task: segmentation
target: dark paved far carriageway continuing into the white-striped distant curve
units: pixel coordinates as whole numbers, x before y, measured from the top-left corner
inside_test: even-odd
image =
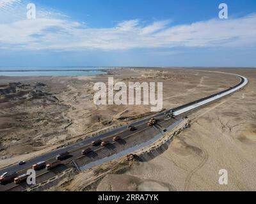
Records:
[[[248,79],[239,75],[235,75],[236,77],[241,78],[241,82],[239,82],[239,84],[237,84],[234,87],[230,87],[229,89],[222,91],[222,92],[218,92],[217,94],[213,94],[212,96],[208,96],[206,98],[203,99],[199,99],[197,101],[193,101],[191,103],[188,103],[186,105],[182,105],[179,106],[177,108],[173,108],[172,110],[168,110],[167,112],[161,112],[161,113],[157,113],[156,115],[154,115],[154,117],[156,117],[158,120],[164,120],[166,119],[166,115],[164,115],[164,113],[169,113],[169,112],[173,112],[173,114],[175,115],[175,117],[179,117],[181,115],[184,115],[188,112],[191,112],[197,108],[200,108],[204,105],[207,105],[209,103],[212,103],[218,99],[221,99],[225,96],[228,96],[229,94],[232,94],[233,92],[238,91],[239,89],[242,89],[245,85],[248,84]],[[144,131],[145,129],[148,129],[147,127],[147,122],[151,117],[147,117],[145,119],[139,120],[137,122],[132,123],[132,126],[136,127],[136,131],[128,131],[127,130],[127,126],[122,126],[120,128],[115,128],[111,131],[108,131],[106,133],[102,133],[98,136],[95,136],[93,138],[88,138],[86,140],[74,143],[72,145],[69,145],[67,147],[63,147],[61,149],[57,149],[54,150],[52,152],[49,152],[47,154],[44,154],[42,156],[38,156],[35,157],[29,161],[26,162],[26,164],[22,165],[22,166],[18,166],[18,165],[13,165],[13,166],[9,166],[7,168],[4,168],[2,170],[0,170],[0,175],[2,175],[4,172],[13,172],[16,171],[20,174],[26,172],[26,170],[28,170],[29,168],[31,168],[31,166],[35,163],[38,163],[40,161],[53,161],[55,159],[55,157],[62,153],[62,152],[71,152],[72,156],[70,159],[67,159],[67,161],[65,162],[70,162],[72,161],[72,159],[81,156],[81,150],[82,149],[86,149],[88,147],[91,147],[93,151],[97,151],[99,149],[99,147],[92,147],[91,143],[93,142],[93,140],[109,140],[111,141],[113,136],[120,136],[121,138],[126,138],[129,135],[134,135],[136,133],[140,133],[141,131]],[[172,121],[173,122],[173,121]],[[42,170],[40,173],[45,173],[45,170]],[[13,186],[13,184],[12,184]],[[3,189],[1,189],[0,186],[0,191],[2,191]]]

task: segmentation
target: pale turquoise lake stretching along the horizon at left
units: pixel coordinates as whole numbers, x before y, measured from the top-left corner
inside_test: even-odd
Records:
[[[0,68],[5,77],[74,77],[104,75],[107,68]],[[108,68],[109,69],[109,68]]]

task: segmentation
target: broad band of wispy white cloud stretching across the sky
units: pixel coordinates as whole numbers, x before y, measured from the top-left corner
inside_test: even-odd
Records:
[[[15,1],[18,0],[0,0],[0,5],[10,6]],[[175,26],[169,20],[145,25],[135,19],[120,22],[114,27],[92,29],[58,11],[36,9],[35,20],[15,18],[12,22],[0,22],[2,49],[122,50],[158,47],[247,47],[256,44],[255,14]]]

